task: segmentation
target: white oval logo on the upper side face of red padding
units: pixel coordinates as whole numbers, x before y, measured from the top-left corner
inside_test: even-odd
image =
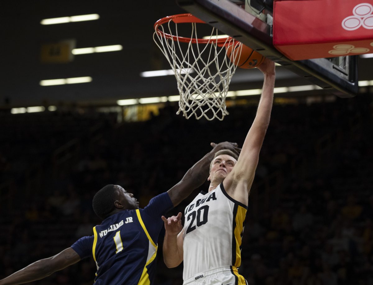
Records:
[[[348,16],[342,21],[342,27],[347,31],[354,31],[361,26],[373,29],[373,6],[369,3],[361,3],[352,10],[353,16]]]

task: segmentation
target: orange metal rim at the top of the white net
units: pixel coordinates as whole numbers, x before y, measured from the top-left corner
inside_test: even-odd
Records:
[[[175,35],[166,34],[165,32],[161,31],[159,29],[160,26],[163,24],[167,24],[168,22],[173,21],[176,24],[179,23],[201,23],[206,24],[206,22],[202,21],[201,19],[198,19],[197,17],[193,16],[192,14],[178,14],[173,16],[167,16],[162,19],[159,19],[154,24],[154,30],[158,35],[160,35],[163,38],[172,39],[173,41],[179,41],[182,43],[193,43],[193,44],[212,44],[216,43],[217,45],[221,46],[224,45],[229,37],[226,38],[219,38],[216,40],[212,39],[203,39],[203,38],[186,38],[186,37],[180,37]]]

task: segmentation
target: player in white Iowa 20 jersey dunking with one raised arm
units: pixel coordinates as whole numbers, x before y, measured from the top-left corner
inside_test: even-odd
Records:
[[[248,196],[259,152],[269,125],[275,85],[275,63],[258,66],[264,84],[258,110],[238,159],[228,150],[215,154],[210,166],[208,193],[201,192],[181,213],[162,217],[166,234],[163,257],[167,267],[184,260],[184,285],[244,285],[238,274]]]

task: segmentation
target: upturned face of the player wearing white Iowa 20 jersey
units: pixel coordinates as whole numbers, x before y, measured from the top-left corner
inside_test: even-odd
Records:
[[[232,171],[233,166],[235,166],[236,163],[237,160],[232,156],[229,156],[228,154],[220,154],[215,157],[211,166],[210,176],[207,180],[214,184],[221,183]]]

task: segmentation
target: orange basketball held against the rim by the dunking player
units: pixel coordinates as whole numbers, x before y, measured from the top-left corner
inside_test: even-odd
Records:
[[[241,49],[241,56],[238,54]],[[232,53],[233,49],[233,53]],[[252,48],[245,46],[242,43],[230,45],[226,47],[227,56],[231,62],[239,68],[249,69],[259,66],[265,59],[260,53],[256,52]],[[234,60],[234,61],[233,61]]]

